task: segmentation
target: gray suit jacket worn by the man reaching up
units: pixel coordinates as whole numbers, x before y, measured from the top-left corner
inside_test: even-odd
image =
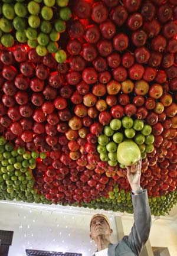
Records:
[[[151,214],[147,190],[132,195],[134,224],[129,236],[123,236],[117,244],[109,244],[108,256],[138,256],[149,237]]]

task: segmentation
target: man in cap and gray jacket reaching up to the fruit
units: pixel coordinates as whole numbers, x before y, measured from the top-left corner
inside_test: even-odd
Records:
[[[90,238],[97,245],[94,256],[138,256],[149,237],[151,215],[147,190],[140,187],[142,161],[132,167],[126,167],[127,179],[132,188],[134,224],[129,236],[124,236],[117,244],[111,244],[109,219],[103,214],[96,214],[90,221]]]

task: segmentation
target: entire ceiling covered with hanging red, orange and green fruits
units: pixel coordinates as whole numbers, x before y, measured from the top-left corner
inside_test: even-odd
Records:
[[[1,1],[1,200],[132,213],[127,142],[152,214],[171,210],[176,20],[176,0]]]

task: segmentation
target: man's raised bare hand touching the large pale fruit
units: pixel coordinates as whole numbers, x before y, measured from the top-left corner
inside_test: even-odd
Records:
[[[133,191],[137,191],[140,188],[140,177],[142,170],[142,159],[140,159],[133,166],[126,166],[127,169],[127,179],[129,180],[130,187]]]

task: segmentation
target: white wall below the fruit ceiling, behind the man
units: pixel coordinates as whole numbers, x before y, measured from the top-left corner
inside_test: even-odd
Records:
[[[12,202],[13,203],[13,202]],[[91,215],[98,210],[43,206],[36,204],[12,205],[0,202],[0,229],[14,231],[9,256],[25,255],[25,249],[47,251],[80,252],[90,256],[96,245],[89,237]],[[114,215],[108,212],[113,228],[112,242],[117,242]],[[128,235],[133,216],[122,215],[124,234]],[[150,231],[152,247],[168,247],[171,256],[177,252],[177,223],[173,220],[157,219]]]

